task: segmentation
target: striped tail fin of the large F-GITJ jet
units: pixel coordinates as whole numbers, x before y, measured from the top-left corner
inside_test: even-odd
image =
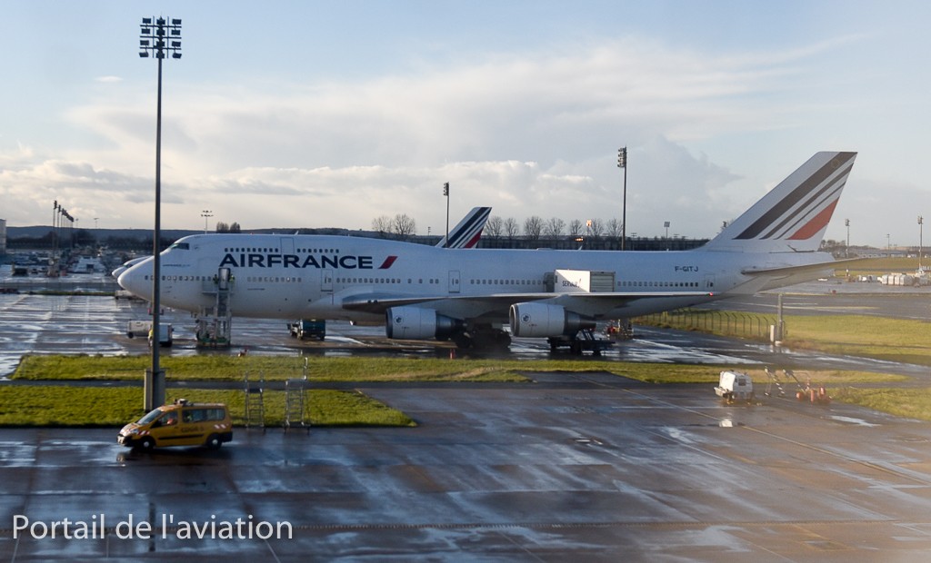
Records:
[[[816,251],[856,157],[857,153],[816,153],[703,249]]]

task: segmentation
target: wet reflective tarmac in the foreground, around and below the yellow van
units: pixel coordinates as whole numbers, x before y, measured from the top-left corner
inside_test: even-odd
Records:
[[[418,427],[237,430],[219,451],[133,453],[115,429],[2,430],[0,556],[850,563],[931,553],[927,423],[778,398],[727,405],[709,387],[600,373],[530,375],[362,386]],[[42,537],[36,523],[63,518],[72,530],[102,518],[105,537]],[[252,539],[223,536],[237,519],[256,523]],[[139,537],[141,523],[152,529]],[[290,537],[257,539],[284,524]]]

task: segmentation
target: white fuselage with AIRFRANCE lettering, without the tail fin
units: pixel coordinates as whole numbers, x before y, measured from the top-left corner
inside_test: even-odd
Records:
[[[830,257],[827,257],[830,260]],[[624,252],[435,248],[383,239],[324,235],[192,235],[161,255],[161,302],[191,312],[216,299],[221,268],[231,275],[233,315],[380,321],[384,313],[344,307],[358,296],[415,300],[454,318],[506,320],[502,302],[533,294],[593,318],[649,314],[752,293],[812,275],[744,275],[826,261],[820,253],[708,251]],[[151,299],[151,259],[119,278],[124,288]],[[556,270],[614,274],[614,293],[651,299],[591,300],[577,288],[547,287]],[[540,295],[540,294],[547,295]],[[655,296],[661,293],[664,295]],[[681,296],[670,295],[681,293]],[[481,298],[487,297],[483,302]],[[610,303],[610,304],[609,304]]]

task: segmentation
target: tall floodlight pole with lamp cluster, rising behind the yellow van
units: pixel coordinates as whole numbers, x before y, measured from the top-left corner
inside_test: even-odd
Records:
[[[155,229],[152,233],[152,370],[145,378],[145,409],[151,410],[165,403],[165,371],[158,364],[158,347],[161,344],[161,259],[159,239],[162,221],[162,60],[166,57],[181,59],[181,20],[169,18],[142,18],[139,37],[139,56],[158,60],[158,95],[155,113]]]

